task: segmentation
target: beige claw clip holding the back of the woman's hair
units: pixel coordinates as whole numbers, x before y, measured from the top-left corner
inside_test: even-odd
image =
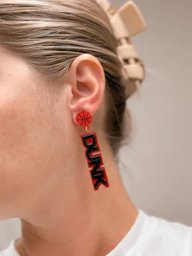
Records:
[[[123,65],[124,78],[132,81],[126,91],[128,98],[136,90],[140,90],[140,85],[145,78],[143,62],[130,40],[130,37],[145,30],[145,21],[132,1],[128,1],[118,10],[113,8],[108,0],[97,0],[97,3],[108,14],[114,35],[119,42],[117,53]]]

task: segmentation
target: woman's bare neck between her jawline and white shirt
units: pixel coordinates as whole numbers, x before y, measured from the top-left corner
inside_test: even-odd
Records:
[[[103,256],[129,232],[138,216],[109,150],[102,154],[109,187],[93,190],[86,162],[67,171],[63,180],[44,187],[21,218],[21,256]],[[49,188],[49,189],[48,189]],[[30,203],[30,202],[29,202]]]

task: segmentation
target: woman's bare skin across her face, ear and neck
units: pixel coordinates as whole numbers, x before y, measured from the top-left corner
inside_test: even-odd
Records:
[[[138,210],[97,115],[105,110],[104,92],[104,71],[91,55],[77,57],[63,81],[51,82],[0,47],[0,219],[21,219],[21,256],[106,255],[134,224]],[[109,180],[98,191],[76,122],[82,110],[93,116]]]

